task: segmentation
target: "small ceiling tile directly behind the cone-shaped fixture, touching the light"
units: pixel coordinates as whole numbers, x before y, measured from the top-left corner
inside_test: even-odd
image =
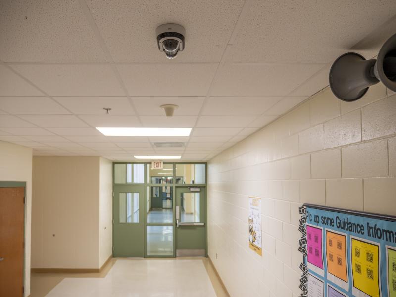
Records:
[[[165,115],[142,115],[140,119],[144,127],[178,127],[191,128],[194,127],[198,116],[195,115],[174,115],[167,117]]]

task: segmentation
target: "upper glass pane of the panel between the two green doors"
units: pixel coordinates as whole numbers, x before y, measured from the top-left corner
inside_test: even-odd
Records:
[[[173,186],[147,187],[147,222],[173,222]]]

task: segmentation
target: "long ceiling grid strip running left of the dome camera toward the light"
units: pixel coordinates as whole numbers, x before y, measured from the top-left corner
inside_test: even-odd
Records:
[[[91,26],[91,29],[94,31],[94,35],[95,35],[97,41],[99,42],[99,45],[100,45],[101,49],[103,50],[107,61],[110,63],[110,67],[113,70],[113,73],[114,73],[116,79],[118,80],[118,83],[120,84],[121,89],[124,91],[125,96],[128,98],[129,104],[131,105],[134,113],[137,115],[139,123],[141,124],[141,126],[143,126],[143,122],[137,113],[135,104],[133,103],[132,99],[129,97],[129,93],[125,87],[124,81],[122,80],[122,77],[119,74],[117,67],[114,65],[114,60],[110,54],[110,51],[107,49],[106,43],[100,34],[98,25],[96,24],[94,17],[92,16],[90,9],[88,8],[87,3],[85,2],[85,0],[79,0],[79,3],[80,3],[80,7],[83,10],[83,13],[84,13],[89,25]],[[149,138],[147,138],[147,140],[149,141]],[[153,148],[153,145],[151,144],[151,142],[149,142],[149,143],[150,143],[151,148]]]

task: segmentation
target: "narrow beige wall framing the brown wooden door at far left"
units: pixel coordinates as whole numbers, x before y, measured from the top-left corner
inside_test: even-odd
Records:
[[[26,182],[25,296],[30,294],[32,148],[0,141],[0,181]]]

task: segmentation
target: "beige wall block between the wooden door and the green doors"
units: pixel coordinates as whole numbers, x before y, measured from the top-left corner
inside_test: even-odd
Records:
[[[99,247],[111,238],[108,165],[99,157],[33,157],[32,268],[100,267],[108,243]]]

